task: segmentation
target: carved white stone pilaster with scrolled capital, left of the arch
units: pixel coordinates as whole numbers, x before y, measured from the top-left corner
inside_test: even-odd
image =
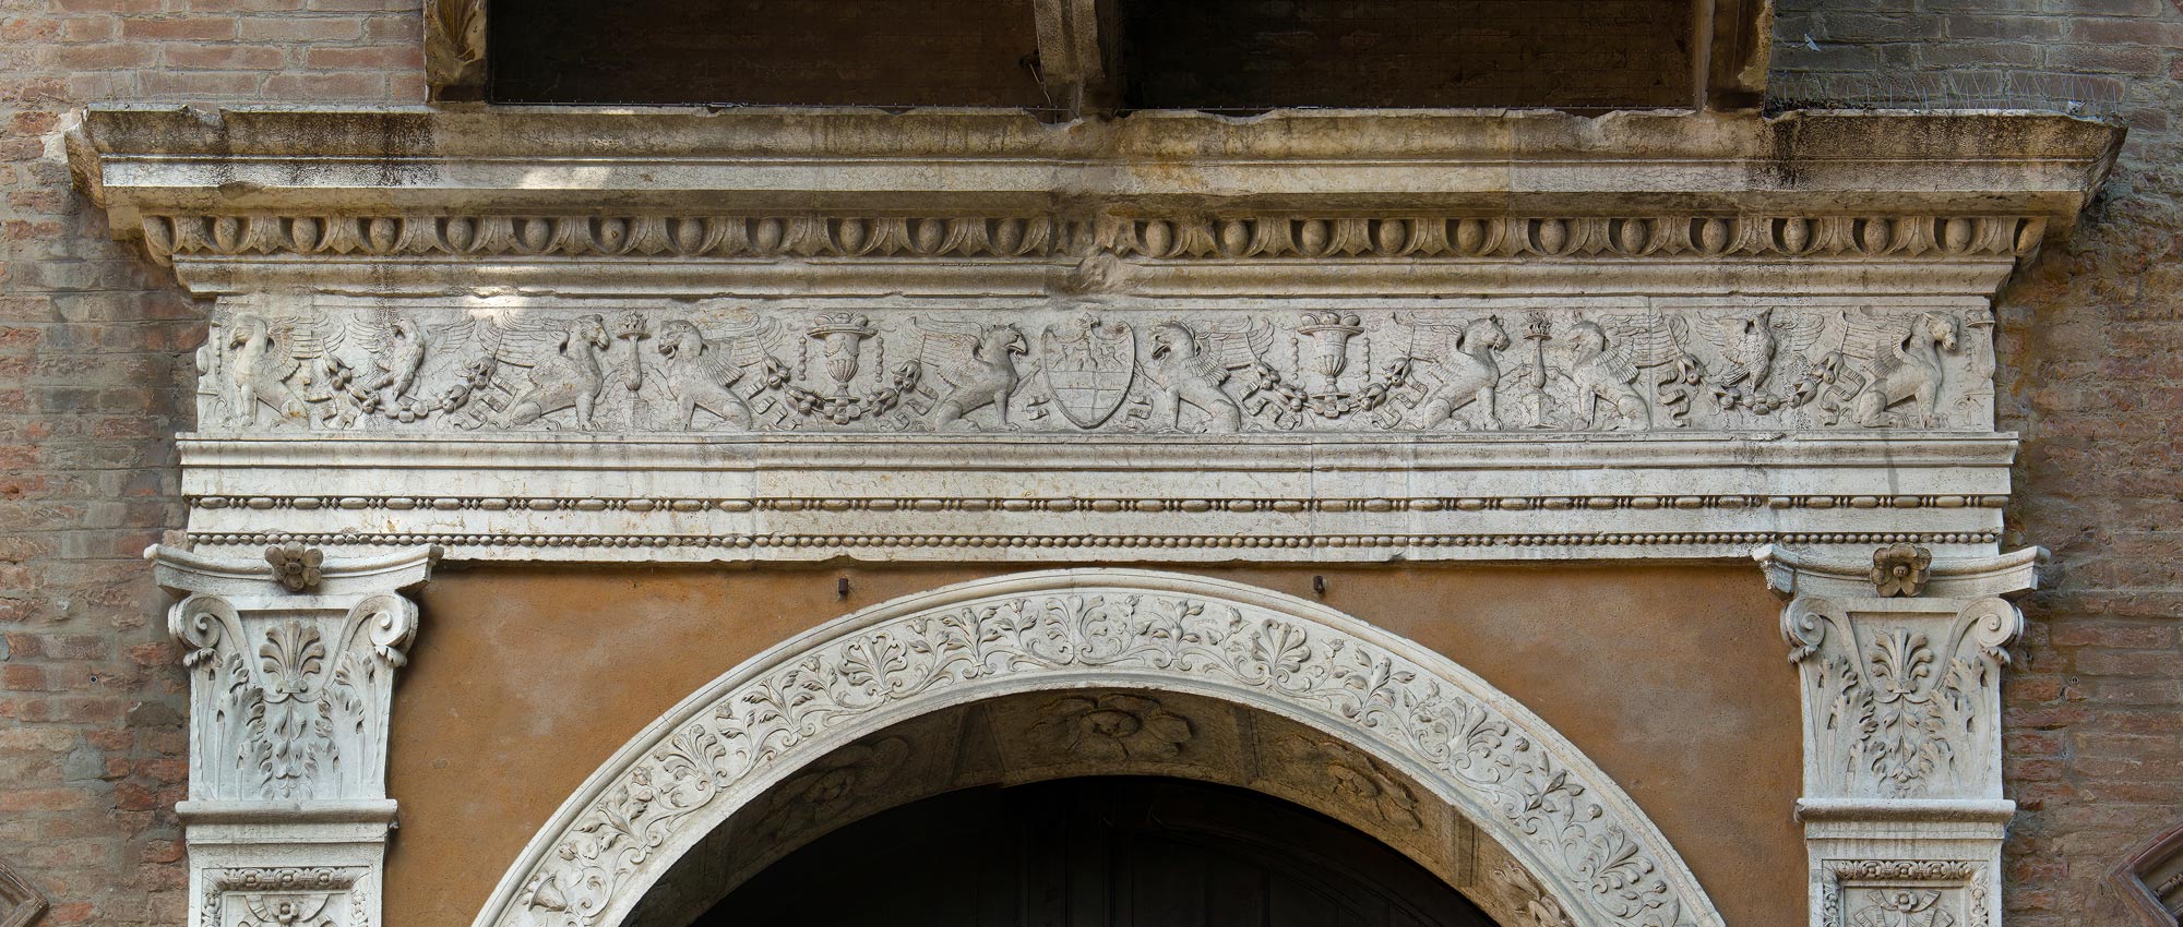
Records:
[[[168,630],[190,670],[190,923],[371,927],[393,800],[395,670],[439,552],[336,558],[277,545],[255,561],[151,547],[183,595]]]

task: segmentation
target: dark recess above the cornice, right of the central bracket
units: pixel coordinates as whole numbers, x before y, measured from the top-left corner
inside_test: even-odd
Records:
[[[1685,0],[1120,0],[1122,105],[1687,107]]]

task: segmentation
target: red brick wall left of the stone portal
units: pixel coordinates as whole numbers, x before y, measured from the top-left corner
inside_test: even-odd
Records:
[[[92,100],[417,103],[417,0],[0,0],[0,859],[48,925],[183,918],[186,678],[138,558],[181,521],[203,310],[70,190]]]

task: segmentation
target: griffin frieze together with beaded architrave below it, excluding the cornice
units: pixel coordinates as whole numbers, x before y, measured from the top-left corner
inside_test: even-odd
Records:
[[[480,558],[1973,554],[2013,454],[1987,318],[1816,297],[234,297],[199,351],[190,534]]]

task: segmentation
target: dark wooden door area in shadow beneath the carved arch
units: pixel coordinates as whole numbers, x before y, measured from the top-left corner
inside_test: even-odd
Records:
[[[834,831],[694,927],[1478,927],[1386,844],[1179,779],[978,787]]]

